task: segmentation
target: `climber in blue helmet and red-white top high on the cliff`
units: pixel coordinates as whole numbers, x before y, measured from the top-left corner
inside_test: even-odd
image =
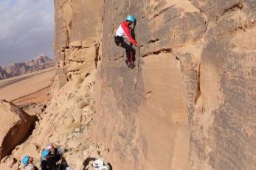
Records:
[[[136,19],[132,15],[128,15],[126,21],[122,22],[117,29],[116,34],[114,35],[114,42],[117,46],[121,46],[125,49],[126,57],[125,63],[128,67],[134,67],[134,60],[135,60],[135,49],[130,46],[128,43],[125,43],[124,38],[128,38],[128,40],[134,44],[135,46],[139,46],[139,43],[131,37],[131,24],[135,24]]]

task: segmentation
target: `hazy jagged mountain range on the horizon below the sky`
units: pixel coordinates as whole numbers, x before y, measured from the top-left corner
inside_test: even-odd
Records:
[[[54,60],[47,57],[46,54],[40,54],[34,60],[30,60],[26,63],[13,63],[4,68],[0,67],[0,79],[7,79],[33,71],[39,71],[53,65],[55,65]]]

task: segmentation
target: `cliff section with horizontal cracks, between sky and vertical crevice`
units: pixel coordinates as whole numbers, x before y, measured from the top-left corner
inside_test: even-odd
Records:
[[[72,77],[97,67],[102,9],[101,0],[55,0],[54,49],[60,87]]]

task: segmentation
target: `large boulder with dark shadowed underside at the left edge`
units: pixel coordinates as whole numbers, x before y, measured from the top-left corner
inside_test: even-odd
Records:
[[[35,127],[36,118],[15,105],[0,101],[0,160],[24,141]]]

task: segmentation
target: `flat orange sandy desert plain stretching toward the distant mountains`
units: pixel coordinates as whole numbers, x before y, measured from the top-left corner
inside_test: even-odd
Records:
[[[47,68],[19,77],[0,81],[0,99],[6,99],[21,105],[29,102],[44,102],[50,99],[52,79],[56,69]]]

